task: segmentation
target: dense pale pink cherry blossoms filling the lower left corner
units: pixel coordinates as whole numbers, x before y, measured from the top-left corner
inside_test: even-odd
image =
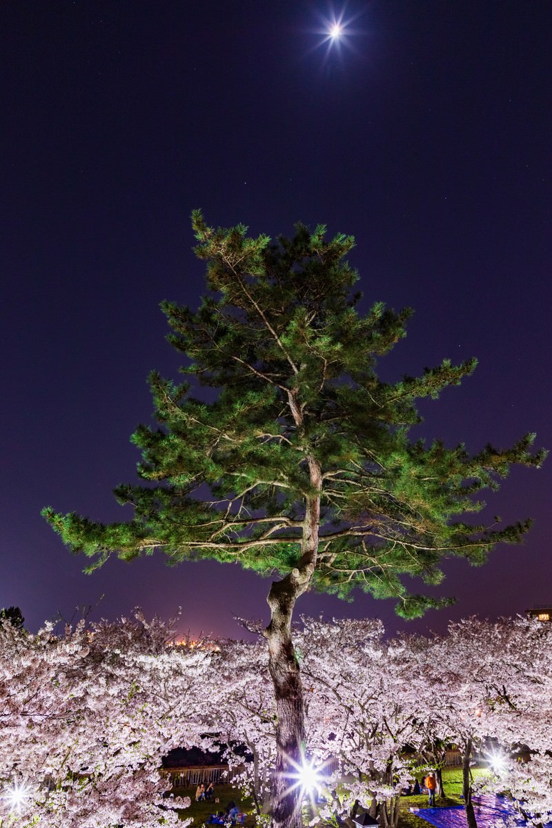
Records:
[[[140,614],[61,636],[0,626],[0,825],[186,824],[161,758],[201,744],[210,657],[168,647],[170,634]]]

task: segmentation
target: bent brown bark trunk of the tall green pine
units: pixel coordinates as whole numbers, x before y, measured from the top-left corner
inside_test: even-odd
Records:
[[[320,468],[310,460],[310,478],[320,489]],[[303,686],[291,638],[295,601],[309,588],[316,566],[320,498],[306,498],[301,554],[297,567],[271,585],[267,601],[271,623],[266,628],[269,670],[276,698],[276,771],[271,790],[271,824],[274,828],[300,828],[302,792],[298,771],[305,758],[305,708]]]

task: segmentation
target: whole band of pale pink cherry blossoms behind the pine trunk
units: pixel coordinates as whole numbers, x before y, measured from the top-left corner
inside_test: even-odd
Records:
[[[0,821],[185,828],[189,801],[167,798],[161,758],[215,743],[233,784],[269,821],[277,716],[261,638],[170,647],[170,629],[140,614],[63,636],[51,625],[36,635],[0,625]],[[358,800],[382,828],[396,828],[413,762],[438,770],[439,749],[456,744],[468,826],[477,825],[468,778],[476,749],[491,768],[478,790],[507,790],[526,819],[550,819],[552,628],[467,619],[446,636],[387,640],[378,621],[303,619],[295,639],[306,738],[284,788],[299,806],[310,800],[314,813],[322,787],[321,816],[344,818]]]

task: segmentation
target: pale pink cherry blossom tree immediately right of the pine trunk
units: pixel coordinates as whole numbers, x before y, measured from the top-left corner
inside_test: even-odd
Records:
[[[339,781],[346,811],[358,802],[394,828],[415,726],[404,665],[377,620],[304,620],[299,640],[305,687],[310,684],[307,721],[322,773],[330,784]]]

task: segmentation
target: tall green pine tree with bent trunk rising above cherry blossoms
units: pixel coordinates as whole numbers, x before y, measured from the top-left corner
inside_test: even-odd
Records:
[[[151,374],[159,428],[142,425],[132,437],[146,485],[115,490],[134,517],[102,525],[44,514],[92,559],[89,569],[113,553],[131,560],[160,550],[170,563],[215,558],[279,575],[267,597],[278,711],[271,818],[287,828],[300,824],[290,777],[305,737],[291,635],[297,599],[358,588],[396,598],[405,617],[446,603],[410,595],[404,576],[436,584],[444,558],[481,564],[497,542],[520,542],[529,522],[486,527],[465,517],[511,464],[540,465],[544,453],[531,451],[533,435],[477,455],[409,439],[420,422],[416,399],[458,385],[476,361],[444,360],[420,378],[382,382],[377,359],[405,335],[410,310],[378,303],[358,312],[350,236],[329,241],[323,226],[311,233],[298,224],[292,238],[271,243],[241,224],[212,229],[199,211],[192,224],[208,291],[197,312],[162,306],[190,380]],[[199,386],[217,389],[214,402],[194,396]]]

